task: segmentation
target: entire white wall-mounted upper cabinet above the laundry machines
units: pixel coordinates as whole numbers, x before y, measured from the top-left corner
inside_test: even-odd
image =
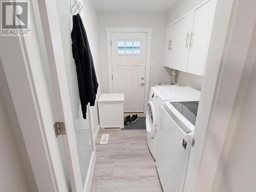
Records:
[[[167,28],[164,66],[203,76],[215,12],[205,1]]]

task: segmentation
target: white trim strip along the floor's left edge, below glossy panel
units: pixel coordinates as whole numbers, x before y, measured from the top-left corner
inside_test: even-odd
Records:
[[[91,192],[95,163],[96,163],[96,151],[92,152],[89,168],[87,171],[86,183],[84,184],[83,192]]]

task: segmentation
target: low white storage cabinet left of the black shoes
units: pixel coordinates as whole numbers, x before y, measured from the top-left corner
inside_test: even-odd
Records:
[[[101,94],[98,99],[99,126],[123,128],[124,94]]]

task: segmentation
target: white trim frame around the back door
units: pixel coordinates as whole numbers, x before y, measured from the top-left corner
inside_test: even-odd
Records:
[[[111,51],[111,33],[147,33],[146,38],[146,66],[145,66],[145,93],[144,93],[144,107],[145,114],[148,101],[148,95],[150,91],[150,63],[151,63],[151,40],[153,28],[105,28],[106,32],[106,52],[108,56],[108,81],[109,81],[109,93],[113,93],[113,63],[112,63],[112,51]]]

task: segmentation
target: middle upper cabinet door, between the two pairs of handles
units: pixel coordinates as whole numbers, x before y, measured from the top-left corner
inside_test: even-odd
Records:
[[[173,25],[172,57],[170,68],[186,72],[188,61],[189,35],[193,27],[194,12],[190,12]]]

